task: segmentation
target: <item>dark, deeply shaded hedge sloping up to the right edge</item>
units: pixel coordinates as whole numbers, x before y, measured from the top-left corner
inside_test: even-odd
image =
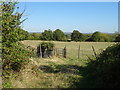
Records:
[[[80,73],[83,79],[72,87],[120,88],[120,44],[108,47]]]

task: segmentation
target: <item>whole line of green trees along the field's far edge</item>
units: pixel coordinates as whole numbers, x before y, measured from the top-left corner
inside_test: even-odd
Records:
[[[96,31],[92,34],[83,34],[78,30],[65,34],[62,30],[50,29],[44,30],[42,33],[28,33],[21,31],[21,40],[44,40],[44,41],[76,41],[76,42],[120,42],[120,34],[106,34]]]

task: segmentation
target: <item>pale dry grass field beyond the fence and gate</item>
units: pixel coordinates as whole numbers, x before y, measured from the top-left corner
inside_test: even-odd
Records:
[[[39,40],[26,40],[22,41],[25,45],[30,45],[34,48],[40,44]],[[101,50],[106,47],[113,45],[113,42],[58,42],[52,41],[55,44],[56,48],[67,47],[67,57],[71,59],[78,58],[78,47],[80,45],[80,59],[87,59],[87,56],[91,57],[94,55],[92,46],[94,46],[96,53],[100,53]]]

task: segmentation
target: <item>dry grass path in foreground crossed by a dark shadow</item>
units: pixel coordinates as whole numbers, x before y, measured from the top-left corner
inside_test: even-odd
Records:
[[[83,65],[77,60],[71,64],[66,59],[56,57],[51,59],[31,58],[31,63],[12,81],[13,87],[68,88],[73,81],[82,78],[79,74],[81,64]]]

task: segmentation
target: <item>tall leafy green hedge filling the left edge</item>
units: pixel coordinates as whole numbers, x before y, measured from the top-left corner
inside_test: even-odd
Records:
[[[21,29],[21,17],[24,12],[15,11],[17,2],[2,2],[0,16],[2,24],[2,78],[3,87],[11,87],[11,79],[29,62],[32,50],[25,49],[19,41],[24,40],[26,31]],[[24,33],[24,34],[23,34]]]

